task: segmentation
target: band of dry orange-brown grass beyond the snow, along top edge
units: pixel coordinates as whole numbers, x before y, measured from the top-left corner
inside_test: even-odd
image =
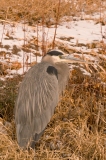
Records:
[[[30,25],[42,22],[48,26],[55,24],[58,16],[59,20],[63,16],[79,16],[82,18],[82,12],[92,15],[95,12],[106,10],[105,0],[1,0],[0,2],[0,19],[15,22],[28,22]]]

